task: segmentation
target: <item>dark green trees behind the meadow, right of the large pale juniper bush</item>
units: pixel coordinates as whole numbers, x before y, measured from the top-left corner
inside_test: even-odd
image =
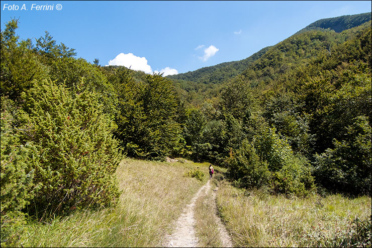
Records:
[[[170,81],[154,74],[144,83],[129,76],[119,82],[116,136],[124,150],[134,157],[163,159],[177,146],[180,132]]]

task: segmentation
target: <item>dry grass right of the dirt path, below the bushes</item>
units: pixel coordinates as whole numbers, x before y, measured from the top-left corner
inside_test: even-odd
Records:
[[[370,246],[371,198],[367,196],[287,198],[237,189],[221,181],[217,206],[237,246],[365,246],[366,240],[355,243],[358,219],[367,223]]]

